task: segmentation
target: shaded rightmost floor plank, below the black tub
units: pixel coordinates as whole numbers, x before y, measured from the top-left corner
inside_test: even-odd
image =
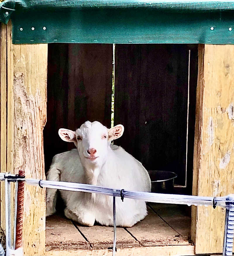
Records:
[[[187,216],[178,205],[154,203],[149,203],[149,205],[168,225],[180,234],[180,237],[183,236],[184,240],[190,238],[191,217]]]

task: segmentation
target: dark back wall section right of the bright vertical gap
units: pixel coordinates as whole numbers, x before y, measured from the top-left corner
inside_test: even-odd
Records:
[[[188,49],[118,44],[115,50],[114,124],[125,127],[115,143],[147,170],[176,172],[180,185],[185,185]]]

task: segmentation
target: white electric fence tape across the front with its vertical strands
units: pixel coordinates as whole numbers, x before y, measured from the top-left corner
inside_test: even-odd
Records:
[[[5,180],[5,190],[6,190],[6,223],[8,222],[8,186],[7,179],[4,173],[0,173],[0,180]],[[16,180],[24,180],[28,185],[54,188],[60,190],[70,190],[70,191],[81,191],[88,193],[98,193],[105,194],[113,197],[113,220],[114,220],[114,240],[113,240],[113,255],[115,255],[116,248],[116,209],[115,209],[115,197],[130,198],[135,200],[142,200],[146,202],[156,202],[156,203],[167,203],[167,204],[187,204],[187,205],[212,205],[214,208],[217,206],[226,208],[226,223],[231,223],[233,220],[233,208],[234,208],[234,194],[230,194],[224,197],[199,197],[199,196],[188,196],[188,195],[177,195],[177,194],[159,194],[159,193],[150,193],[150,192],[137,192],[137,191],[128,191],[124,189],[112,189],[107,187],[94,186],[89,184],[82,183],[73,183],[73,182],[63,182],[63,181],[51,181],[51,180],[38,180],[38,179],[25,179],[25,178],[16,178]],[[11,181],[14,181],[14,178],[11,176]],[[230,210],[230,213],[229,213]],[[6,225],[8,226],[8,225]],[[233,234],[234,225],[231,223],[230,225],[225,226],[224,235],[224,247],[223,247],[223,255],[232,255],[232,247],[233,247],[233,237],[230,238],[230,234]],[[6,235],[9,235],[7,227],[6,227]],[[6,246],[7,251],[9,252],[8,245],[9,237],[6,237]],[[19,252],[18,255],[22,255]],[[23,253],[23,251],[22,251]],[[9,254],[8,254],[9,255]],[[7,255],[7,256],[8,256]]]

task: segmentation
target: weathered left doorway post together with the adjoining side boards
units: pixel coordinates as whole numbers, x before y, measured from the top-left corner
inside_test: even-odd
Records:
[[[23,169],[26,178],[45,179],[42,131],[46,98],[47,44],[13,45],[11,24],[2,24],[1,172],[18,173]],[[45,189],[26,185],[24,195],[24,254],[44,255]],[[4,218],[1,204],[3,228]]]

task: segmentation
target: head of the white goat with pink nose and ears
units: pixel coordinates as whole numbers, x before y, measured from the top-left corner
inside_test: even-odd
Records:
[[[75,132],[59,129],[62,140],[73,142],[78,149],[80,160],[87,169],[101,168],[106,161],[113,139],[122,136],[123,125],[107,129],[101,123],[86,121]]]

